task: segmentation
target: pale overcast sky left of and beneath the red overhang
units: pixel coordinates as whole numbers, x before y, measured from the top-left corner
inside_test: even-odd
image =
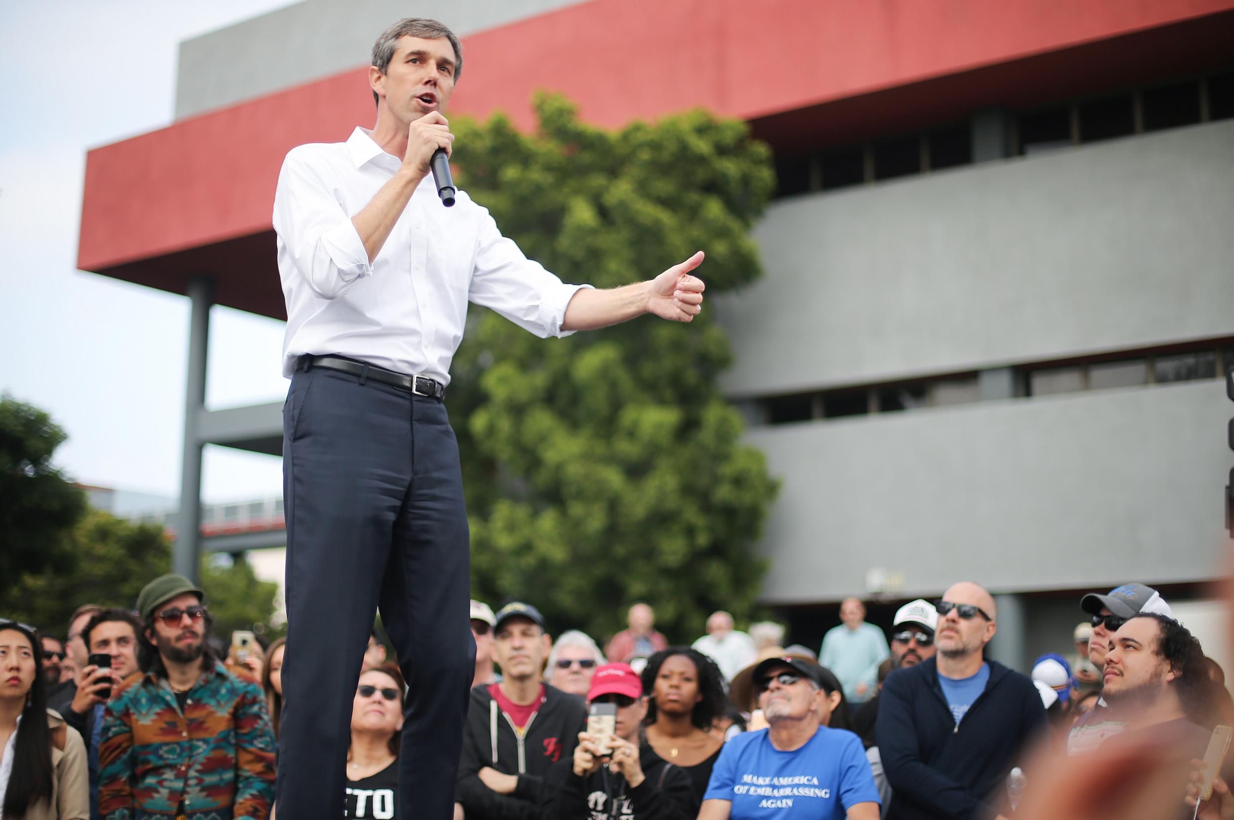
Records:
[[[189,301],[75,269],[85,152],[172,122],[178,44],[288,0],[0,0],[0,392],[48,411],[84,483],[178,496]],[[211,408],[281,401],[283,323],[211,313]],[[207,502],[281,493],[207,448]]]

